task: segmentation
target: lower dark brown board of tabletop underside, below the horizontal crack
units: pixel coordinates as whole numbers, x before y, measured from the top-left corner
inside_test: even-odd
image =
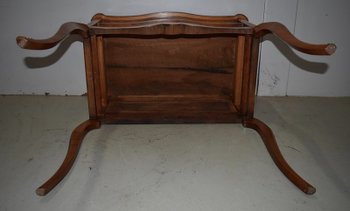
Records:
[[[232,74],[170,68],[108,68],[108,95],[232,95]]]

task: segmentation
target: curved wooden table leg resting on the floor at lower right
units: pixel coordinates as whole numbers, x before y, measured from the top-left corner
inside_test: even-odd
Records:
[[[301,178],[283,158],[281,151],[278,148],[275,136],[272,130],[262,121],[252,118],[243,121],[243,126],[256,130],[265,143],[267,150],[269,151],[273,161],[282,173],[294,183],[300,190],[306,194],[314,194],[316,189]]]

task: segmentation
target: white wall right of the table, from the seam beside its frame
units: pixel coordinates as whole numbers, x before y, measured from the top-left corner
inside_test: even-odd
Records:
[[[310,56],[269,36],[262,45],[259,95],[350,96],[349,11],[347,0],[266,0],[265,21],[285,24],[303,41],[334,42],[338,49],[330,57]]]

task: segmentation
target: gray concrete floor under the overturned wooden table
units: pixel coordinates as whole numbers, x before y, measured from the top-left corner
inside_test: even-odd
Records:
[[[350,98],[257,99],[308,196],[240,124],[103,125],[69,175],[34,191],[87,119],[84,97],[0,97],[0,210],[350,210]]]

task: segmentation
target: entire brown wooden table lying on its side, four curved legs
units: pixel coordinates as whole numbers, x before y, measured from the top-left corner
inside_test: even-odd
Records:
[[[269,33],[308,54],[336,49],[302,42],[277,22],[255,26],[240,14],[96,14],[89,24],[63,24],[48,39],[17,37],[25,49],[48,49],[71,34],[84,45],[89,120],[74,129],[61,167],[36,193],[46,195],[64,178],[84,135],[101,123],[199,122],[256,130],[286,177],[306,194],[315,193],[284,160],[271,129],[254,118],[259,43]]]

